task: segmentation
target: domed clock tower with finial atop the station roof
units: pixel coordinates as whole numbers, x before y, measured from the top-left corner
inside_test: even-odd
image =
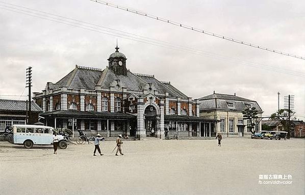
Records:
[[[109,56],[109,69],[113,70],[117,75],[127,75],[126,69],[126,57],[123,53],[119,52],[119,48],[116,46],[115,52]]]

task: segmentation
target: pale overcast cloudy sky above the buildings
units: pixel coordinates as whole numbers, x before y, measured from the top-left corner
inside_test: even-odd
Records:
[[[305,1],[109,3],[305,57]],[[128,59],[128,69],[170,81],[193,99],[214,91],[236,93],[257,101],[263,116],[270,116],[277,110],[277,92],[281,93],[280,108],[284,96],[290,94],[295,96],[296,119],[305,120],[305,60],[90,0],[0,0],[0,29],[1,99],[27,99],[29,66],[33,70],[33,92],[41,92],[46,82],[57,82],[75,65],[104,69],[117,41],[119,51]]]

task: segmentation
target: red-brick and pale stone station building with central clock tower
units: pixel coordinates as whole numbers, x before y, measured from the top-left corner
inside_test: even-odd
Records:
[[[47,82],[33,99],[43,109],[45,125],[134,137],[201,136],[201,128],[214,133],[217,120],[199,117],[199,100],[188,97],[154,75],[128,69],[119,48],[104,69],[75,66],[58,82]],[[154,133],[152,133],[154,129]],[[78,134],[75,134],[78,135]]]

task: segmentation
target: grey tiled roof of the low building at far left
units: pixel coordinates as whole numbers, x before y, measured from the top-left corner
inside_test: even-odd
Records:
[[[42,112],[42,109],[35,102],[31,104],[33,112]],[[26,111],[27,101],[0,99],[0,110]]]

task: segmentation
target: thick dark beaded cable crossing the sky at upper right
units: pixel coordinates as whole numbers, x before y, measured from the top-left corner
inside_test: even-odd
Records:
[[[293,58],[298,58],[298,59],[301,59],[301,60],[305,60],[304,57],[301,57],[299,55],[295,55],[295,54],[291,54],[291,53],[287,53],[287,52],[283,52],[283,51],[279,51],[279,50],[275,50],[275,49],[269,49],[265,46],[260,46],[260,45],[256,45],[256,44],[252,44],[252,43],[248,43],[248,42],[244,42],[244,41],[239,41],[239,40],[234,39],[234,38],[230,38],[230,37],[226,37],[226,36],[219,35],[219,34],[216,34],[216,33],[208,32],[208,31],[205,31],[205,30],[202,30],[202,29],[197,29],[196,27],[185,25],[185,24],[182,24],[181,22],[175,22],[175,21],[168,20],[168,19],[165,19],[165,18],[162,18],[162,17],[147,14],[147,13],[135,10],[135,9],[125,8],[123,6],[114,5],[114,4],[104,2],[104,1],[99,1],[99,0],[90,0],[90,1],[95,2],[95,3],[99,3],[99,4],[103,4],[103,5],[112,7],[112,8],[117,8],[117,9],[120,9],[120,10],[132,12],[134,14],[146,16],[148,18],[156,19],[156,20],[159,20],[159,21],[162,21],[162,22],[166,22],[166,23],[175,25],[175,26],[180,26],[180,27],[183,27],[183,28],[188,29],[188,30],[192,30],[192,31],[197,32],[197,33],[202,33],[202,34],[210,35],[210,36],[217,37],[217,38],[220,38],[220,39],[223,39],[223,40],[232,41],[232,42],[235,42],[235,43],[247,45],[247,46],[250,46],[250,47],[253,47],[253,48],[258,48],[258,49],[271,51],[271,52],[282,54],[282,55],[287,55],[287,56],[290,56],[290,57],[293,57]]]

